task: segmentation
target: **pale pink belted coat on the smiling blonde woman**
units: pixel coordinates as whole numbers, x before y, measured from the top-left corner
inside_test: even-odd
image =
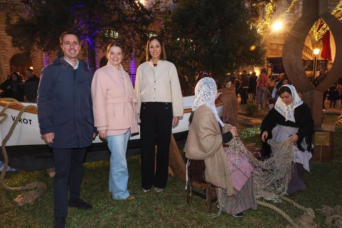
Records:
[[[91,85],[94,125],[107,135],[139,132],[139,109],[129,75],[110,62],[94,73]]]

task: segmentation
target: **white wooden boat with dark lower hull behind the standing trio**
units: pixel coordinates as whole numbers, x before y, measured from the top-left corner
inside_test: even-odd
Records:
[[[187,136],[193,101],[194,96],[183,97],[184,115],[179,119],[177,126],[172,128],[172,133],[176,140]],[[7,103],[8,102],[3,100],[0,101],[0,111],[2,111]],[[7,135],[20,110],[22,110],[23,106],[27,105],[36,106],[34,103],[22,103],[22,106],[11,105],[7,108],[5,111],[7,118],[0,124],[1,142]],[[223,113],[223,102],[221,100],[216,101],[216,108],[218,114],[221,116]],[[128,148],[137,147],[140,147],[139,134],[131,136],[128,142]],[[37,170],[54,166],[52,150],[40,134],[36,109],[28,109],[22,114],[12,136],[6,144],[6,151],[8,155],[8,165],[16,169]],[[89,148],[86,161],[105,160],[109,158],[108,155],[107,143],[104,143],[99,136],[97,136],[93,145]],[[1,158],[2,153],[0,153],[0,160],[2,160]]]

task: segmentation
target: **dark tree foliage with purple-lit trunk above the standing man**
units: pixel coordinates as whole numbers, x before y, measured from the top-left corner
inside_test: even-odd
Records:
[[[6,33],[14,47],[30,53],[34,45],[46,52],[59,49],[59,35],[74,31],[88,46],[106,49],[111,42],[120,43],[125,54],[139,56],[148,39],[147,27],[153,21],[152,10],[135,0],[24,0],[27,14],[7,14]],[[106,36],[113,30],[118,37]],[[108,33],[107,33],[108,34]],[[88,56],[95,63],[95,52]],[[95,68],[95,66],[92,66]]]

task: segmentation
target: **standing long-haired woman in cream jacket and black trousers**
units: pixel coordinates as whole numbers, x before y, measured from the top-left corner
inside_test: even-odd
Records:
[[[168,182],[171,129],[183,116],[183,98],[177,69],[166,60],[159,37],[151,37],[147,42],[146,62],[137,69],[134,90],[141,119],[142,189],[148,192],[154,185],[155,191],[161,192]]]

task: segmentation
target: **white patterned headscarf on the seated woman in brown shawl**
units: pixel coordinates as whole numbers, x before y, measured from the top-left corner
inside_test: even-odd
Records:
[[[214,114],[217,121],[224,126],[224,123],[220,119],[219,115],[217,114],[217,110],[215,107],[215,100],[217,97],[217,88],[216,82],[214,79],[209,77],[204,77],[199,80],[195,87],[195,100],[191,109],[193,112],[198,109],[201,105],[207,106]]]

